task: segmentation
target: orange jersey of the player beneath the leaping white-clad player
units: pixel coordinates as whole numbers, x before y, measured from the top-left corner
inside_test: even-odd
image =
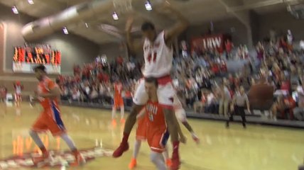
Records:
[[[148,101],[146,103],[146,117],[148,119],[148,125],[151,128],[163,128],[165,125],[165,115],[163,114],[163,108],[158,102]]]

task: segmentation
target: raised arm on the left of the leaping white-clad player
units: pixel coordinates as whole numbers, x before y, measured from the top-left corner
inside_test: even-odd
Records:
[[[141,45],[141,43],[136,43],[134,41],[134,38],[132,38],[131,30],[133,23],[134,23],[134,18],[133,16],[130,16],[126,21],[126,43],[129,47],[129,50],[133,53],[136,53],[136,51],[139,50],[143,45]]]

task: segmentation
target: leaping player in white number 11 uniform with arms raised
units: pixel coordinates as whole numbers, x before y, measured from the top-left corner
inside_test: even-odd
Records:
[[[175,91],[171,84],[170,70],[173,62],[173,40],[175,40],[175,38],[177,38],[178,35],[188,27],[188,21],[179,11],[173,9],[168,2],[165,2],[165,8],[179,18],[179,22],[172,28],[164,30],[161,33],[156,33],[156,28],[153,23],[143,23],[141,30],[145,40],[143,45],[135,45],[131,38],[131,28],[134,20],[130,18],[126,24],[126,37],[129,48],[132,52],[136,52],[136,50],[140,49],[137,47],[143,47],[145,60],[143,77],[156,77],[158,79],[158,102],[163,108],[165,120],[173,142],[172,169],[179,169],[180,158],[178,154],[178,129],[180,127],[175,115],[173,114],[173,96]],[[136,115],[141,111],[141,108],[143,108],[147,101],[148,95],[144,88],[144,81],[142,81],[134,95],[134,105],[126,120],[124,137],[121,145],[114,151],[113,157],[121,157],[121,155],[129,149],[129,134],[136,123]]]

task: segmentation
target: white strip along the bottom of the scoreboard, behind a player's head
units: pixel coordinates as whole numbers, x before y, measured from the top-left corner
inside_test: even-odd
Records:
[[[13,62],[13,72],[19,73],[34,73],[33,68],[38,64],[30,64],[26,62]],[[48,74],[60,74],[61,67],[60,65],[54,64],[43,64],[46,68]]]

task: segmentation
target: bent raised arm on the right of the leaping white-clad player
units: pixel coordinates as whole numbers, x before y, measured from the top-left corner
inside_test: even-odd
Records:
[[[165,30],[165,43],[169,46],[172,44],[174,38],[178,37],[180,33],[183,33],[183,31],[188,28],[189,21],[180,13],[180,11],[173,8],[168,1],[165,1],[164,8],[178,18],[178,22],[175,23],[175,25],[168,30]]]

